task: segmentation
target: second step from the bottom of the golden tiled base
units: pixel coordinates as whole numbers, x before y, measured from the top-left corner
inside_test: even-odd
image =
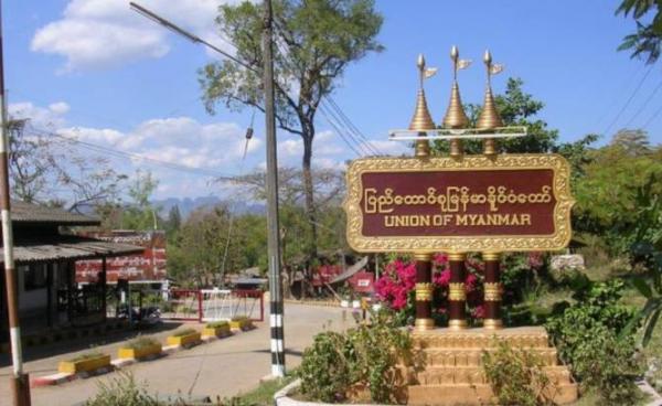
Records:
[[[566,366],[544,366],[552,384],[569,384],[570,371]],[[416,378],[420,385],[488,384],[482,366],[428,366]]]

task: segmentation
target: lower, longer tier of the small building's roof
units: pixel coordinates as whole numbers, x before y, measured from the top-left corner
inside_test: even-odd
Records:
[[[2,248],[0,247],[0,252]],[[57,259],[89,259],[138,254],[143,250],[143,247],[136,245],[61,235],[42,241],[15,241],[14,260],[17,264],[24,264]]]

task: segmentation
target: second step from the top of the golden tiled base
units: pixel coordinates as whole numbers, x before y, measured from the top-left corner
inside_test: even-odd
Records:
[[[536,355],[543,365],[554,366],[558,364],[556,349],[554,348],[522,348]],[[453,348],[427,348],[423,350],[426,354],[427,366],[479,366],[482,365],[483,351],[492,352],[491,349],[453,349]]]

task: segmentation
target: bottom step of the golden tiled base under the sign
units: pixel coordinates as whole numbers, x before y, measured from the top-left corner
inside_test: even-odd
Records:
[[[559,384],[549,396],[557,405],[567,405],[577,399],[577,384]],[[492,400],[492,388],[488,384],[412,385],[408,405],[450,406],[485,405]]]

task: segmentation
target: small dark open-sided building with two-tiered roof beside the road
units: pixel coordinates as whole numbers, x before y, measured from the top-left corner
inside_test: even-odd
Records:
[[[99,226],[100,220],[61,209],[14,201],[12,223],[24,333],[105,321],[106,259],[142,253],[143,248],[75,235],[72,227]],[[102,268],[96,284],[78,288],[76,263],[84,259],[100,259]],[[0,342],[7,342],[9,335],[4,285],[4,265],[0,264]]]

